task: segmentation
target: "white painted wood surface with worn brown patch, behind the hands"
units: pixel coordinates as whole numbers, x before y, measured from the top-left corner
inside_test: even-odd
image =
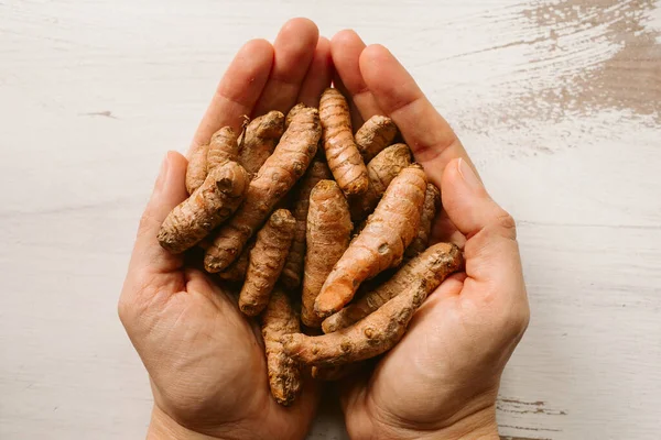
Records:
[[[351,12],[349,12],[351,11]],[[661,2],[0,0],[0,439],[141,438],[116,301],[161,157],[290,16],[389,46],[519,221],[506,438],[661,436]],[[344,438],[324,416],[311,438]]]

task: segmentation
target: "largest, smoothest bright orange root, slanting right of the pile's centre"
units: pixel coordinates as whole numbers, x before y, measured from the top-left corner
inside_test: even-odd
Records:
[[[425,190],[426,176],[418,164],[405,167],[392,180],[365,229],[326,278],[314,304],[321,318],[349,302],[360,283],[402,262],[418,232]]]

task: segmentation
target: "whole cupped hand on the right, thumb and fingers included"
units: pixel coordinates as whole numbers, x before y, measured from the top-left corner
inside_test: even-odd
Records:
[[[412,77],[384,47],[353,31],[332,40],[336,84],[355,125],[394,120],[416,162],[441,188],[435,241],[464,248],[465,274],[446,279],[373,372],[345,384],[351,438],[498,439],[496,396],[529,321],[514,221],[488,195],[466,151]]]

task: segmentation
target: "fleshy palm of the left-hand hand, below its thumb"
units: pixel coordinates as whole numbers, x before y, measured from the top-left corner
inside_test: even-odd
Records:
[[[170,286],[151,286],[158,294],[131,311],[141,316],[131,338],[156,405],[180,425],[209,436],[221,437],[223,427],[231,425],[260,438],[302,437],[314,410],[311,389],[292,408],[278,405],[256,322],[202,273],[172,278]]]

